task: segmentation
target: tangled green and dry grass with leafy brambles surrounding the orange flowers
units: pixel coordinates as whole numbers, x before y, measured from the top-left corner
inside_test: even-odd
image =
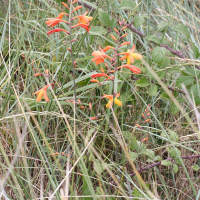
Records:
[[[82,28],[72,29],[76,39],[72,55],[77,62],[74,80],[67,50],[70,37],[63,32],[46,34],[47,18],[68,12],[61,2],[0,2],[1,198],[198,199],[199,158],[181,159],[199,153],[198,1],[86,3],[96,11],[88,13],[93,17],[89,34]],[[87,10],[83,7],[75,14]],[[114,28],[123,27],[116,18],[133,22],[147,36],[126,28],[124,41],[131,44],[118,50],[124,52],[135,44],[143,59],[134,65],[142,73],[123,68],[115,73],[114,84],[106,81],[100,87],[90,82],[90,76],[101,73],[101,67],[106,73],[114,68],[109,59],[110,70],[104,64],[95,65],[92,52],[99,46],[116,47],[110,35],[116,36]],[[69,31],[64,23],[56,27]],[[178,59],[161,45],[184,58]],[[106,53],[113,57],[112,52]],[[125,62],[117,59],[117,66]],[[49,76],[34,77],[39,72],[34,69],[43,74],[48,69]],[[103,83],[104,78],[98,80]],[[49,83],[55,83],[47,90],[50,101],[36,102],[34,93]],[[122,101],[114,110],[106,108],[107,99],[101,99],[103,94],[113,94],[113,86]],[[86,109],[70,102],[74,95]],[[142,113],[150,114],[144,119]],[[91,120],[95,116],[98,120]],[[166,162],[170,157],[174,162]],[[141,170],[159,161],[161,164]],[[133,176],[136,168],[142,172]]]

